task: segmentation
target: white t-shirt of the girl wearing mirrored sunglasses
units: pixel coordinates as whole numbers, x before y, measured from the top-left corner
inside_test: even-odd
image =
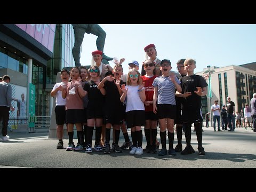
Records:
[[[126,94],[126,109],[125,112],[131,111],[131,110],[145,110],[144,103],[140,99],[139,95],[139,85],[138,86],[131,86],[126,85],[125,89],[128,88],[127,94]],[[145,89],[145,87],[142,88],[142,90]]]

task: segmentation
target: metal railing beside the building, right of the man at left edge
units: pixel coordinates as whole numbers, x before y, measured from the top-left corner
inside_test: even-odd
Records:
[[[51,117],[50,116],[35,116],[36,121],[35,128],[50,128],[51,125]],[[27,124],[28,117],[9,117],[8,126],[11,129],[17,129],[20,122]]]

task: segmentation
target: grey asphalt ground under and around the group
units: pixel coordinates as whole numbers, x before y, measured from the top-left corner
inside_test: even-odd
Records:
[[[194,154],[158,156],[157,154],[130,155],[129,149],[123,153],[103,154],[94,152],[56,149],[58,139],[49,139],[48,129],[36,129],[35,133],[9,132],[9,141],[0,140],[0,168],[255,168],[256,133],[247,128],[236,128],[235,132],[214,132],[213,127],[203,127],[203,147],[206,155],[199,156],[196,133],[191,132]],[[130,131],[129,137],[131,139]],[[157,134],[158,140],[159,134]],[[68,139],[63,139],[67,147]],[[77,140],[74,139],[74,143]],[[123,134],[119,145],[124,142]],[[93,140],[94,144],[94,140]],[[174,136],[174,145],[177,137]],[[186,146],[182,135],[183,149]],[[143,134],[143,148],[146,139]],[[168,145],[167,145],[168,147]],[[160,145],[160,149],[162,146]]]

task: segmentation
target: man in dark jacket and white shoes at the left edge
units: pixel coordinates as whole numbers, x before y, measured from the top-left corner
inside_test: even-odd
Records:
[[[3,82],[0,83],[0,119],[3,119],[2,141],[7,141],[10,138],[7,135],[9,111],[10,109],[14,111],[12,107],[12,86],[9,84],[10,82],[11,78],[8,75],[4,75]]]

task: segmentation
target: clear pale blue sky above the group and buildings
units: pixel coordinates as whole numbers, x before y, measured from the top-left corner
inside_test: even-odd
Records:
[[[256,25],[237,24],[100,24],[107,33],[104,52],[109,57],[125,58],[128,63],[145,60],[144,47],[154,43],[157,58],[169,59],[172,70],[182,58],[196,60],[195,73],[206,66],[224,67],[256,61]],[[81,63],[91,65],[91,52],[97,50],[97,36],[85,34]],[[110,62],[113,67],[114,63]]]

